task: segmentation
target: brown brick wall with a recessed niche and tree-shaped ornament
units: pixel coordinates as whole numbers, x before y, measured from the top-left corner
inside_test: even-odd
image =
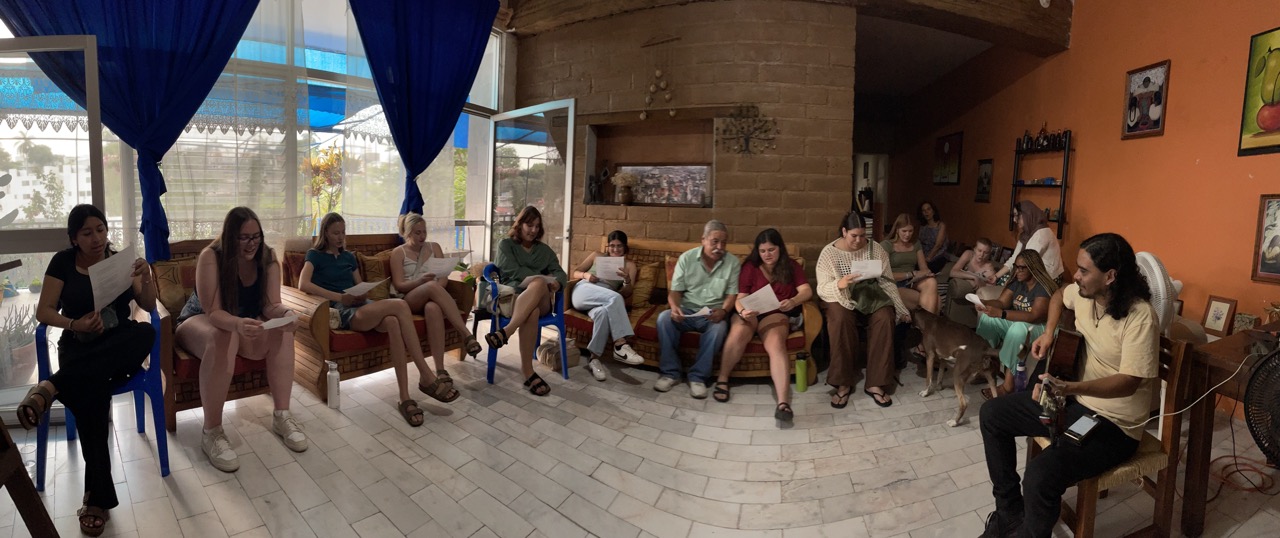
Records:
[[[754,104],[777,119],[780,131],[777,149],[763,155],[716,149],[714,208],[625,208],[582,204],[595,163],[585,160],[588,128],[579,126],[568,263],[581,260],[612,229],[696,241],[713,218],[728,225],[731,242],[751,242],[759,231],[776,227],[794,254],[815,260],[852,200],[855,17],[842,5],[728,0],[655,8],[520,38],[518,106],[576,97],[579,115],[639,114],[660,68],[675,94],[669,108]],[[663,36],[680,40],[640,46]],[[667,108],[653,109],[649,122],[663,120]]]

